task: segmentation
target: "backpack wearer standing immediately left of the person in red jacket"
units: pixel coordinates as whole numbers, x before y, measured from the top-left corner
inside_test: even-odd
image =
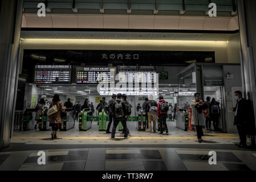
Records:
[[[148,111],[148,129],[150,133],[156,133],[156,114],[157,114],[157,102],[149,100],[145,104],[145,108]],[[153,130],[151,121],[153,121]]]

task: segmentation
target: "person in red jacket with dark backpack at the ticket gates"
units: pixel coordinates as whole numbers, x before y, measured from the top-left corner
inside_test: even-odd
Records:
[[[159,119],[159,122],[160,122],[160,134],[163,134],[162,125],[164,125],[166,135],[169,135],[168,127],[166,125],[168,109],[169,107],[168,107],[168,104],[165,102],[164,97],[159,96],[159,104],[157,104],[157,119]]]

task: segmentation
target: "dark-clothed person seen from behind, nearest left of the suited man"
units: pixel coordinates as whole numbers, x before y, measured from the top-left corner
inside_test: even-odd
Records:
[[[214,131],[218,131],[218,123],[220,117],[220,103],[212,98],[212,102],[210,103],[210,118],[213,121]]]

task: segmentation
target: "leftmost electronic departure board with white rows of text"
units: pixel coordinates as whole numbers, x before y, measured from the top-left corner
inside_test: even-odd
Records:
[[[71,65],[35,65],[34,84],[71,84]]]

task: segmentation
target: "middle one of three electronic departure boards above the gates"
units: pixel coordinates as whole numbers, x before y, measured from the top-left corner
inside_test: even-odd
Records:
[[[76,84],[115,83],[115,68],[76,67]]]

